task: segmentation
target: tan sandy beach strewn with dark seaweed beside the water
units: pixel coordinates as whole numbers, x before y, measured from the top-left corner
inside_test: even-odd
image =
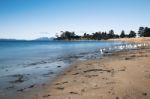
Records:
[[[76,63],[36,98],[150,99],[149,51],[147,46]]]

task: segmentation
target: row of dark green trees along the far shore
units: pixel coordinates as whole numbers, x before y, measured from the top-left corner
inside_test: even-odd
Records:
[[[60,35],[56,35],[55,40],[107,40],[115,38],[135,38],[139,37],[150,37],[150,28],[139,27],[138,32],[131,30],[129,34],[126,34],[124,30],[121,31],[120,35],[115,34],[114,30],[107,32],[95,32],[92,34],[84,33],[82,36],[75,34],[75,32],[61,31]]]

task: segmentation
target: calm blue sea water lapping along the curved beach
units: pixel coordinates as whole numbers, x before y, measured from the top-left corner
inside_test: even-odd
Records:
[[[121,44],[110,41],[1,41],[0,89],[42,84],[69,64],[99,58],[100,49]],[[20,76],[23,81],[15,82]]]

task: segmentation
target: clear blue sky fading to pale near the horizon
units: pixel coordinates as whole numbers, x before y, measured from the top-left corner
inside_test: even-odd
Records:
[[[150,27],[150,0],[0,0],[0,38],[55,37]]]

